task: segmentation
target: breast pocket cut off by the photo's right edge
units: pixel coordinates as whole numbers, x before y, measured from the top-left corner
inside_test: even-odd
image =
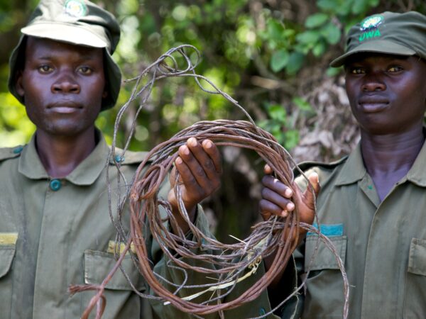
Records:
[[[426,313],[426,240],[413,238],[405,279],[404,318],[424,318]]]

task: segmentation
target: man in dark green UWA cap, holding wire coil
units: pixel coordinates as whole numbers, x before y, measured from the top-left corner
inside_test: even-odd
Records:
[[[338,162],[301,167],[321,184],[320,230],[346,268],[348,318],[425,318],[426,16],[369,16],[349,30],[346,44],[331,65],[344,66],[361,141]],[[293,192],[271,175],[263,185],[263,215],[285,215],[296,205],[300,220],[313,223],[312,201],[297,188],[293,203]],[[283,318],[342,318],[342,274],[332,252],[322,243],[317,249],[317,239],[307,233],[294,253],[297,276],[310,272],[305,292],[285,305]],[[293,265],[288,268],[283,285]]]

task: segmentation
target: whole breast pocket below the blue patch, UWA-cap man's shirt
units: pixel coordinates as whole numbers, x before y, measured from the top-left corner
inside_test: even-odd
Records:
[[[344,235],[329,236],[336,253],[344,264],[346,242]],[[320,242],[318,242],[320,240]],[[315,253],[315,250],[317,252]],[[322,314],[342,317],[344,281],[339,262],[332,250],[317,235],[308,235],[305,242],[305,272],[310,270],[306,284],[303,317],[320,318]]]

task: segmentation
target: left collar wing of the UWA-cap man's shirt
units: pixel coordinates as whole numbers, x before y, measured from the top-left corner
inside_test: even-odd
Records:
[[[361,145],[358,143],[351,152],[337,177],[337,186],[356,183],[366,175],[366,167],[361,155]]]

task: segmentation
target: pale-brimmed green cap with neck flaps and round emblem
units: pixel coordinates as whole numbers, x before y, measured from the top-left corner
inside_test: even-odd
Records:
[[[120,26],[108,11],[87,0],[41,0],[27,26],[21,29],[21,39],[9,60],[9,91],[21,103],[23,96],[16,91],[16,71],[19,52],[26,36],[104,48],[105,78],[108,96],[102,110],[115,105],[121,87],[121,72],[111,55],[120,39]]]

